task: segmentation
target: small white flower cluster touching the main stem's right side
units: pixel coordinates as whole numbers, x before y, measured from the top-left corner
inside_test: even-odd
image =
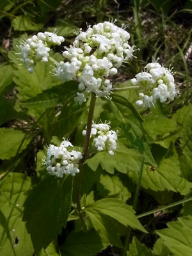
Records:
[[[109,123],[95,124],[93,122],[90,138],[96,137],[93,139],[93,143],[98,151],[108,150],[109,154],[113,156],[116,150],[117,134],[115,131],[110,130],[110,128]],[[82,134],[86,135],[86,129],[83,130]]]

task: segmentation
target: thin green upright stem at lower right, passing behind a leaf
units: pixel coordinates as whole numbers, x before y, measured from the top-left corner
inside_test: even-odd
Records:
[[[135,191],[135,194],[134,194],[134,200],[133,200],[133,205],[132,205],[132,208],[134,209],[134,211],[136,211],[136,207],[137,207],[137,204],[138,204],[138,197],[139,197],[140,187],[141,187],[141,179],[142,179],[142,175],[143,175],[143,166],[144,166],[144,157],[142,157],[142,159],[141,159],[139,179],[138,179],[138,184],[136,186],[136,191]],[[130,237],[131,237],[131,229],[132,228],[129,227],[128,230],[127,230],[127,236],[125,237],[124,252],[122,254],[123,256],[126,255],[127,249],[129,247]]]

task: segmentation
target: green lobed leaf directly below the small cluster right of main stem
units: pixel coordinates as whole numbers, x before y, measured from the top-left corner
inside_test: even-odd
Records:
[[[140,170],[140,159],[140,153],[118,142],[113,156],[110,156],[108,152],[98,152],[95,156],[88,159],[86,163],[94,171],[97,170],[100,164],[108,173],[113,174],[115,169],[118,172],[127,173],[129,170],[133,172]]]

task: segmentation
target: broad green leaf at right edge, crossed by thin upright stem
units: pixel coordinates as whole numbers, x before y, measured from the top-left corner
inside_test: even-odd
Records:
[[[136,182],[138,180],[138,172],[129,172],[129,177]],[[163,159],[159,168],[154,172],[150,171],[149,166],[145,166],[141,186],[145,189],[154,191],[170,190],[179,192],[181,195],[188,195],[192,188],[192,182],[182,177],[177,157]]]

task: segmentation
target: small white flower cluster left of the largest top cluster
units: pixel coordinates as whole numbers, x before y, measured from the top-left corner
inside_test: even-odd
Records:
[[[64,42],[63,36],[51,32],[39,32],[26,42],[22,42],[20,44],[21,57],[28,71],[33,73],[37,61],[47,62],[50,47],[60,45],[62,42]]]

